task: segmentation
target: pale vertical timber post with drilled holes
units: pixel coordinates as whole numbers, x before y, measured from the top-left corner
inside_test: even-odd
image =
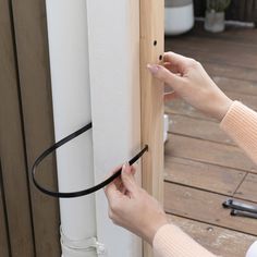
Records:
[[[158,63],[164,48],[164,1],[140,0],[142,143],[149,146],[143,158],[143,187],[163,201],[163,85],[152,78],[147,63]],[[151,256],[144,245],[144,256]]]

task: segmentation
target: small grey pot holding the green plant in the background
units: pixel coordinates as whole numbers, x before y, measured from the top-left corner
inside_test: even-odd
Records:
[[[207,11],[205,17],[205,29],[211,33],[224,30],[224,12]]]

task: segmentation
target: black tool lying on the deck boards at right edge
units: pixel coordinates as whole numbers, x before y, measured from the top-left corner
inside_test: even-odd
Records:
[[[222,206],[224,208],[232,209],[230,215],[231,216],[240,216],[240,217],[247,217],[257,219],[257,206],[245,204],[234,199],[225,200]]]

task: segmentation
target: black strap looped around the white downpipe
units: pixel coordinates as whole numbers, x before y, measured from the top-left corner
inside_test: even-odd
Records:
[[[100,188],[105,187],[108,185],[110,182],[112,182],[114,179],[121,175],[122,168],[118,170],[113,175],[105,180],[103,182],[99,183],[98,185],[95,185],[93,187],[89,187],[87,189],[83,191],[77,191],[77,192],[68,192],[68,193],[62,193],[62,192],[52,192],[49,189],[46,189],[44,186],[41,186],[37,180],[36,180],[36,169],[39,166],[39,163],[50,154],[52,154],[57,148],[61,147],[62,145],[66,144],[68,142],[74,139],[75,137],[79,136],[81,134],[85,133],[86,131],[91,128],[91,123],[83,126],[82,128],[77,130],[76,132],[72,133],[71,135],[64,137],[63,139],[59,140],[51,147],[49,147],[47,150],[45,150],[34,162],[33,168],[32,168],[32,176],[33,176],[33,182],[35,186],[42,192],[46,195],[52,196],[52,197],[58,197],[58,198],[73,198],[73,197],[79,197],[84,195],[89,195],[91,193],[95,193],[96,191],[99,191]],[[132,166],[144,154],[145,151],[148,150],[148,146],[146,145],[143,150],[140,150],[135,157],[133,157],[128,163]]]

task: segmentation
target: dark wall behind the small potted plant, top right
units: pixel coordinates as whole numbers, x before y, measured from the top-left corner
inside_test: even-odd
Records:
[[[206,10],[205,0],[195,0],[195,15],[204,16]],[[227,10],[227,19],[242,22],[257,23],[257,0],[232,0]]]

